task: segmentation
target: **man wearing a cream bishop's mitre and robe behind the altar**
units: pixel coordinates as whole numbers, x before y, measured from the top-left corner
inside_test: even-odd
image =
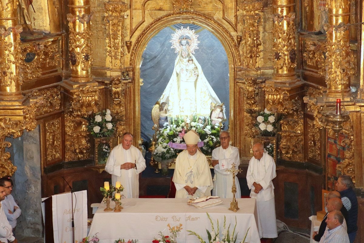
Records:
[[[187,150],[178,154],[173,182],[176,198],[194,198],[211,196],[213,181],[209,163],[205,154],[198,150],[199,136],[190,130],[183,136]]]

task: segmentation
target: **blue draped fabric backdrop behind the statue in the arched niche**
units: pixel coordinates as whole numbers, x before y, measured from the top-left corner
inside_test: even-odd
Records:
[[[203,74],[217,97],[225,103],[227,121],[225,129],[229,125],[229,63],[226,51],[221,42],[210,31],[194,24],[178,25],[195,30],[198,35],[198,49],[195,50],[195,58],[202,67]],[[177,58],[175,49],[171,48],[171,34],[175,32],[177,25],[166,27],[159,31],[147,44],[141,60],[140,77],[144,85],[140,90],[141,108],[141,137],[150,142],[154,131],[151,110],[161,98],[164,89],[169,82],[174,62]]]

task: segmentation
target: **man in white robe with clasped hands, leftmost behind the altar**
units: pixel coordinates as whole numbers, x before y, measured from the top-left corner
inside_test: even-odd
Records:
[[[132,134],[124,133],[122,143],[111,150],[105,166],[105,171],[111,174],[112,185],[116,181],[123,185],[126,198],[139,197],[139,173],[146,168],[142,153],[132,142]]]

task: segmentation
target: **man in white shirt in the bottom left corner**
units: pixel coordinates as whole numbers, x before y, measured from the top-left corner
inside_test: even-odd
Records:
[[[3,186],[3,184],[1,184],[0,185],[0,201],[1,201],[1,204],[0,204],[0,242],[17,243],[17,240],[15,239],[13,232],[12,232],[12,227],[9,224],[8,219],[6,218],[6,215],[4,213],[3,202],[4,202],[4,199],[6,196],[5,190],[6,190],[6,188]]]

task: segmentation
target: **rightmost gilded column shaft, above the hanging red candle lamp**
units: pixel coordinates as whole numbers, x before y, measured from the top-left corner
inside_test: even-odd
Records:
[[[350,95],[350,75],[354,72],[350,56],[349,23],[350,2],[327,1],[329,23],[327,29],[326,70],[328,97]]]

